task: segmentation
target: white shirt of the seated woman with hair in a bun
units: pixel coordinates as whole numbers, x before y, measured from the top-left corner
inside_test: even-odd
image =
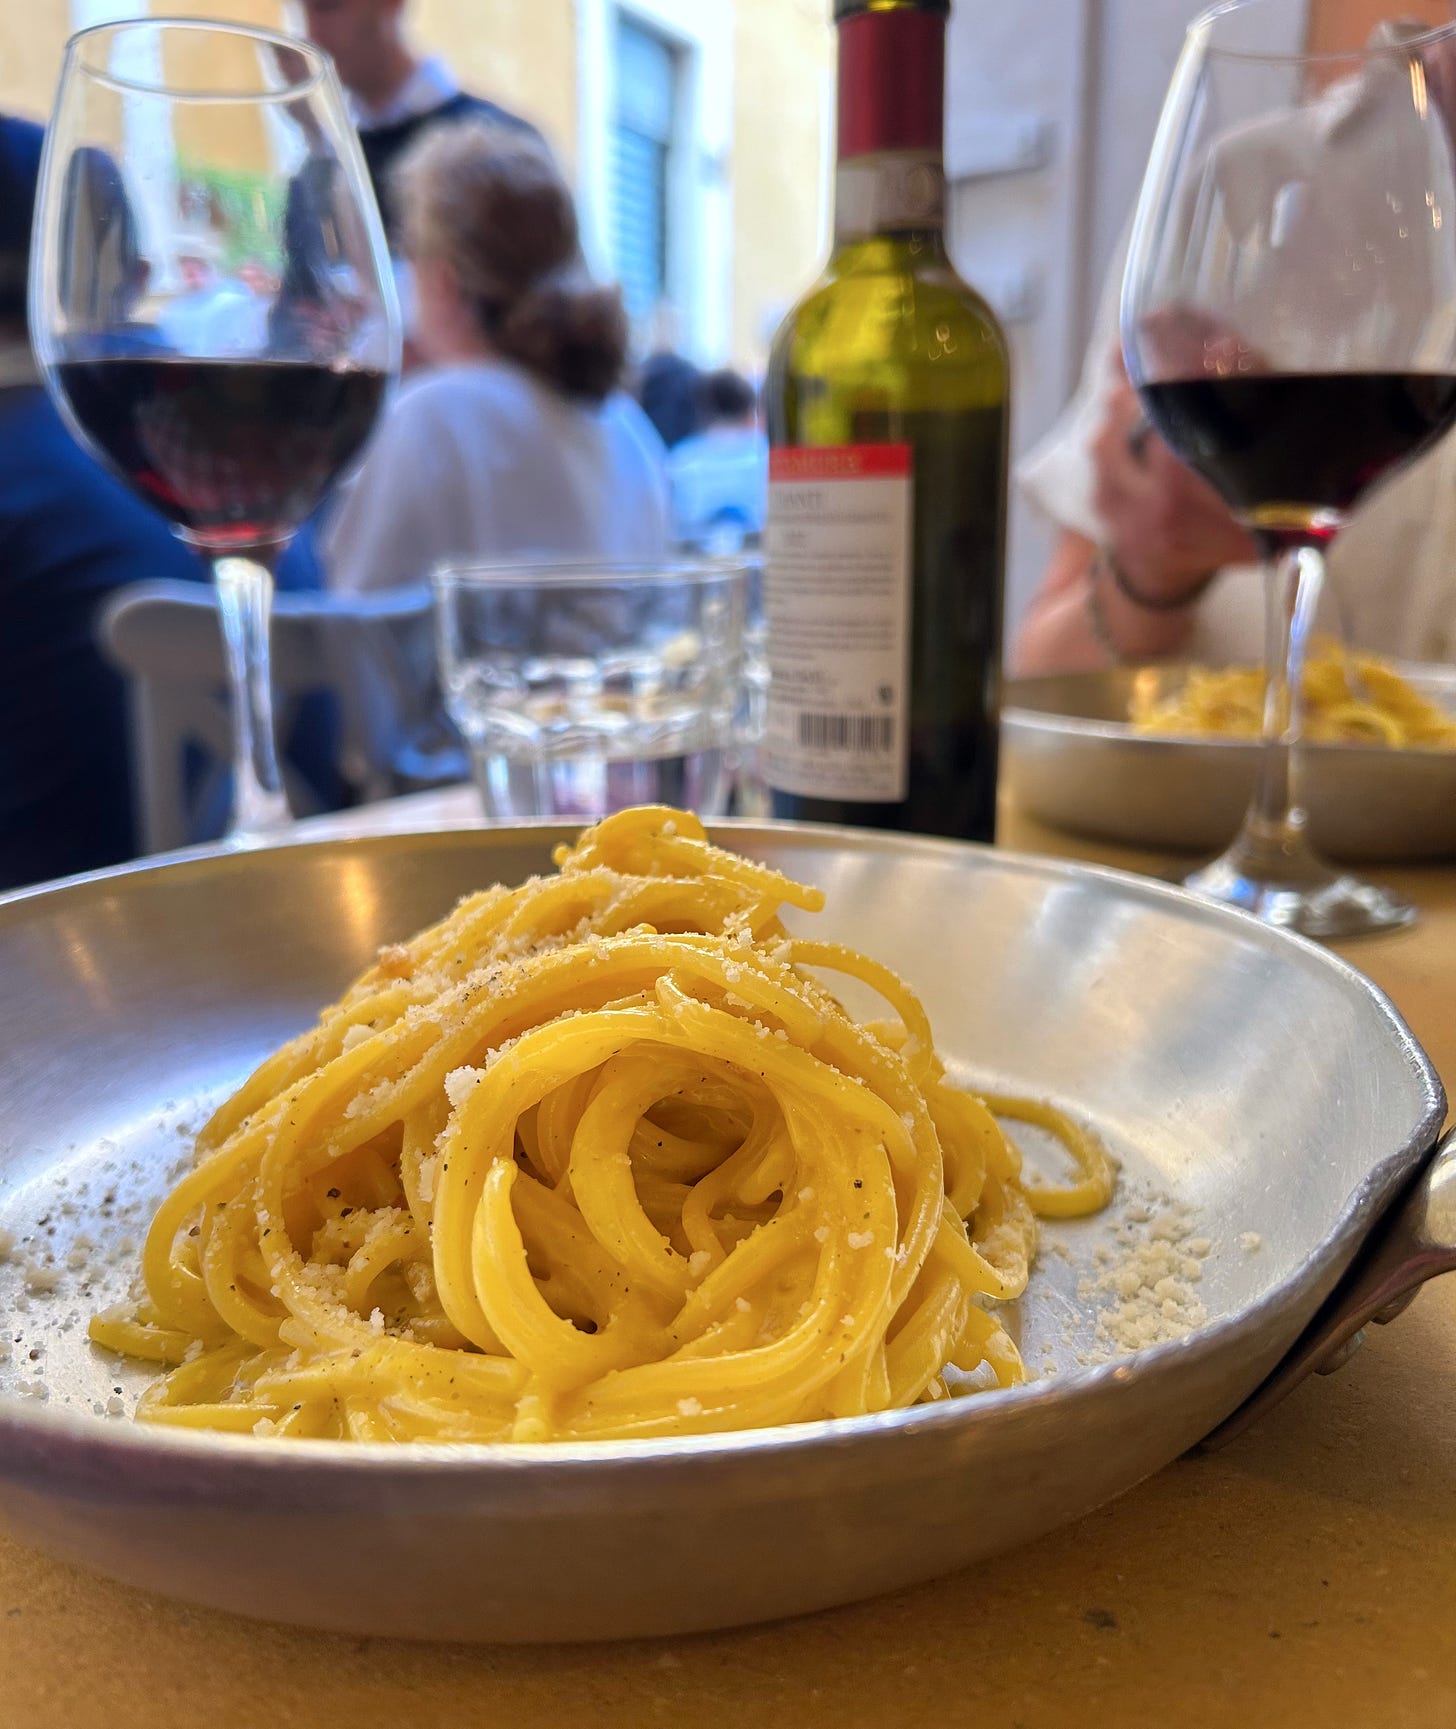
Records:
[[[662,441],[626,394],[571,403],[503,361],[418,373],[323,538],[329,588],[422,581],[444,558],[650,562],[671,545]]]

